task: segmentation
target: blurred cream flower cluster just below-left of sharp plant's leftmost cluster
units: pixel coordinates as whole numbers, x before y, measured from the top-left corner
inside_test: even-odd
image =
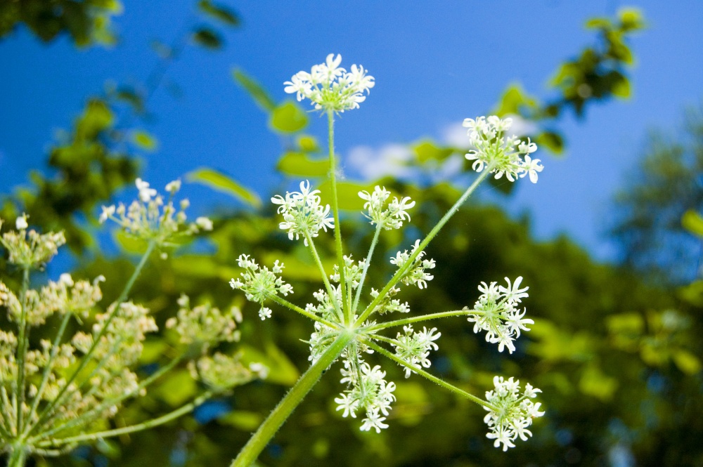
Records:
[[[198,343],[207,350],[211,344],[239,341],[236,321],[242,321],[242,314],[238,308],[233,307],[231,316],[223,315],[209,303],[191,308],[191,299],[185,294],[178,299],[178,304],[177,317],[169,318],[166,327],[176,330],[181,343]]]

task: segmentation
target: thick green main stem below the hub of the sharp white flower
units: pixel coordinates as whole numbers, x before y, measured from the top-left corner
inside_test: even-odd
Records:
[[[303,398],[315,386],[317,381],[322,376],[323,371],[330,367],[342,350],[354,339],[355,334],[351,331],[344,331],[337,339],[325,350],[321,357],[311,365],[311,367],[300,376],[288,394],[283,397],[269,417],[259,426],[252,438],[239,452],[236,459],[231,463],[231,467],[250,467],[257,460],[259,454],[264,450],[273,435],[276,434],[278,428],[288,419],[295,408],[302,402]]]

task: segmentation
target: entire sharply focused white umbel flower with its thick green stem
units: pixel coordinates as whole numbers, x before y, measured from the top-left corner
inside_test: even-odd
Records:
[[[346,254],[340,232],[336,191],[334,114],[358,107],[366,97],[363,93],[373,86],[373,79],[366,76],[366,71],[361,67],[352,66],[352,73],[347,73],[339,67],[340,62],[339,55],[335,57],[330,54],[325,63],[315,65],[310,73],[299,72],[285,83],[286,92],[296,93],[298,100],[309,98],[318,110],[328,114],[330,205],[323,204],[318,190],[312,190],[307,181],[300,184],[300,192],[287,192],[285,197],[277,195],[271,199],[279,206],[278,213],[283,216],[279,227],[288,232],[291,240],[302,239],[319,269],[324,288],[314,292],[313,300],[301,308],[279,296],[292,291],[278,275],[282,268],[259,272],[257,263],[248,256],[240,257],[240,267],[245,268],[242,278],[230,282],[233,288],[242,289],[247,299],[261,304],[259,315],[262,319],[270,314],[270,310],[263,308],[263,301],[271,299],[314,321],[314,329],[307,341],[311,366],[252,435],[232,465],[249,467],[254,463],[280,425],[323,372],[337,360],[341,360],[340,383],[343,386],[334,400],[337,411],[343,417],[359,417],[361,430],[380,433],[387,428],[387,419],[396,399],[396,385],[387,379],[387,371],[380,364],[370,361],[379,355],[399,364],[406,378],[413,374],[423,376],[484,407],[489,411],[489,416],[486,416],[489,426],[487,437],[496,440],[496,446],[502,444],[506,449],[514,445],[513,441],[517,438],[527,439],[531,435],[527,427],[532,419],[543,414],[539,411],[540,404],[532,402],[539,390],[527,385],[524,393],[519,394],[515,392],[519,391],[517,381],[513,382],[512,378],[504,381],[496,376],[496,388],[486,393],[486,399],[482,399],[432,376],[427,369],[432,366],[432,353],[439,350],[441,333],[437,327],[423,326],[420,330],[415,324],[445,317],[466,317],[475,323],[475,331],[486,331],[486,339],[497,343],[498,350],[508,348],[512,353],[515,339],[521,331],[528,331],[527,325],[533,323],[524,317],[524,309],[520,311],[518,308],[522,299],[527,297],[527,287],[520,288],[522,277],[515,282],[508,279],[506,287],[498,287],[496,282],[482,283],[479,286],[482,295],[474,310],[464,308],[413,316],[401,294],[403,287],[415,286],[421,290],[428,287],[428,282],[434,278],[432,270],[437,268],[437,264],[427,258],[425,248],[489,173],[494,173],[496,178],[505,176],[511,182],[524,176],[536,182],[538,172],[543,169],[539,160],[531,159],[529,155],[534,153],[536,145],[529,139],[521,141],[514,136],[505,136],[510,129],[510,119],[467,119],[465,126],[469,128],[470,142],[475,147],[467,158],[475,161],[472,167],[479,173],[477,180],[427,236],[417,239],[409,251],[401,250],[390,257],[390,263],[396,270],[385,286],[369,289],[366,277],[381,232],[399,229],[409,223],[415,202],[410,197],[391,198],[391,192],[380,186],[370,192],[359,192],[366,210],[363,216],[375,225],[375,232],[366,256],[359,256],[354,261],[351,254]],[[334,221],[329,217],[330,213]],[[334,230],[335,235],[337,261],[331,271],[325,269],[314,242],[320,230],[326,231],[327,228]],[[401,332],[386,335],[386,332],[398,327]]]

